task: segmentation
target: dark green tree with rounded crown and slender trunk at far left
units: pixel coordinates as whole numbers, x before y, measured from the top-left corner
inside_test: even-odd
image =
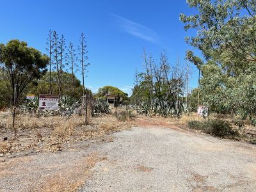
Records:
[[[22,93],[34,79],[39,79],[47,70],[49,58],[40,51],[28,47],[26,42],[10,40],[0,44],[0,63],[13,106],[13,128],[15,109],[22,99]],[[15,134],[16,134],[16,129]]]

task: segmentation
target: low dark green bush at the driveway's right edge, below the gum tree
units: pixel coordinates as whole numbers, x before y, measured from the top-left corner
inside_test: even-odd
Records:
[[[217,136],[220,138],[233,137],[238,134],[237,131],[232,130],[232,125],[224,120],[207,120],[205,122],[190,121],[188,122],[190,129],[200,129],[207,134]]]

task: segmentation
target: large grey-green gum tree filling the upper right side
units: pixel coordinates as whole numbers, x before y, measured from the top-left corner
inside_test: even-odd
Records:
[[[200,92],[211,111],[256,116],[256,1],[188,0],[195,15],[180,14],[186,42],[204,55]]]

